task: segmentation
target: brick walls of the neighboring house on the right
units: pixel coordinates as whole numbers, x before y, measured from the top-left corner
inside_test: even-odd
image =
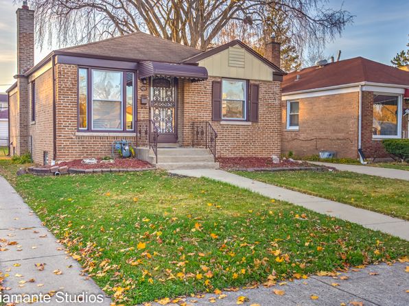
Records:
[[[282,106],[281,152],[311,156],[322,150],[338,157],[358,158],[359,92],[296,99],[299,101],[299,130],[287,130],[287,101]],[[403,109],[408,108],[404,102]],[[408,131],[408,117],[402,118]],[[373,93],[362,91],[362,151],[367,158],[385,158],[382,139],[373,139]]]

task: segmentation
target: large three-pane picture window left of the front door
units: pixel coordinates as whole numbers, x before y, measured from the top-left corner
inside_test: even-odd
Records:
[[[103,69],[78,70],[78,129],[134,129],[134,73]]]

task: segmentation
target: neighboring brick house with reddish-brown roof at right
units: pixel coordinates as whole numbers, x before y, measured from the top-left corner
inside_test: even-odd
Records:
[[[409,72],[351,58],[285,75],[281,152],[388,157],[382,139],[408,138]],[[406,115],[405,115],[406,114]]]

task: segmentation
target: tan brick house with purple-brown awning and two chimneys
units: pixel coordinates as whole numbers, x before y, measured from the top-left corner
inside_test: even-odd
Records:
[[[200,51],[137,32],[52,51],[34,65],[34,11],[16,14],[11,154],[30,152],[38,164],[101,157],[121,139],[210,148],[216,133],[218,157],[280,153],[285,73],[274,39],[264,58],[239,40]]]

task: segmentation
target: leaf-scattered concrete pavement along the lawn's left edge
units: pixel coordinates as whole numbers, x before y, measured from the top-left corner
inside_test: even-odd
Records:
[[[43,264],[44,270],[36,268],[38,264]],[[81,272],[80,264],[67,255],[64,246],[56,242],[56,237],[41,224],[13,187],[0,176],[0,279],[3,277],[3,298],[12,294],[47,294],[54,291],[58,294],[46,305],[111,303],[100,287]],[[88,296],[100,294],[103,301],[58,303],[63,301],[61,296],[65,293],[73,298],[82,292],[87,292]]]

